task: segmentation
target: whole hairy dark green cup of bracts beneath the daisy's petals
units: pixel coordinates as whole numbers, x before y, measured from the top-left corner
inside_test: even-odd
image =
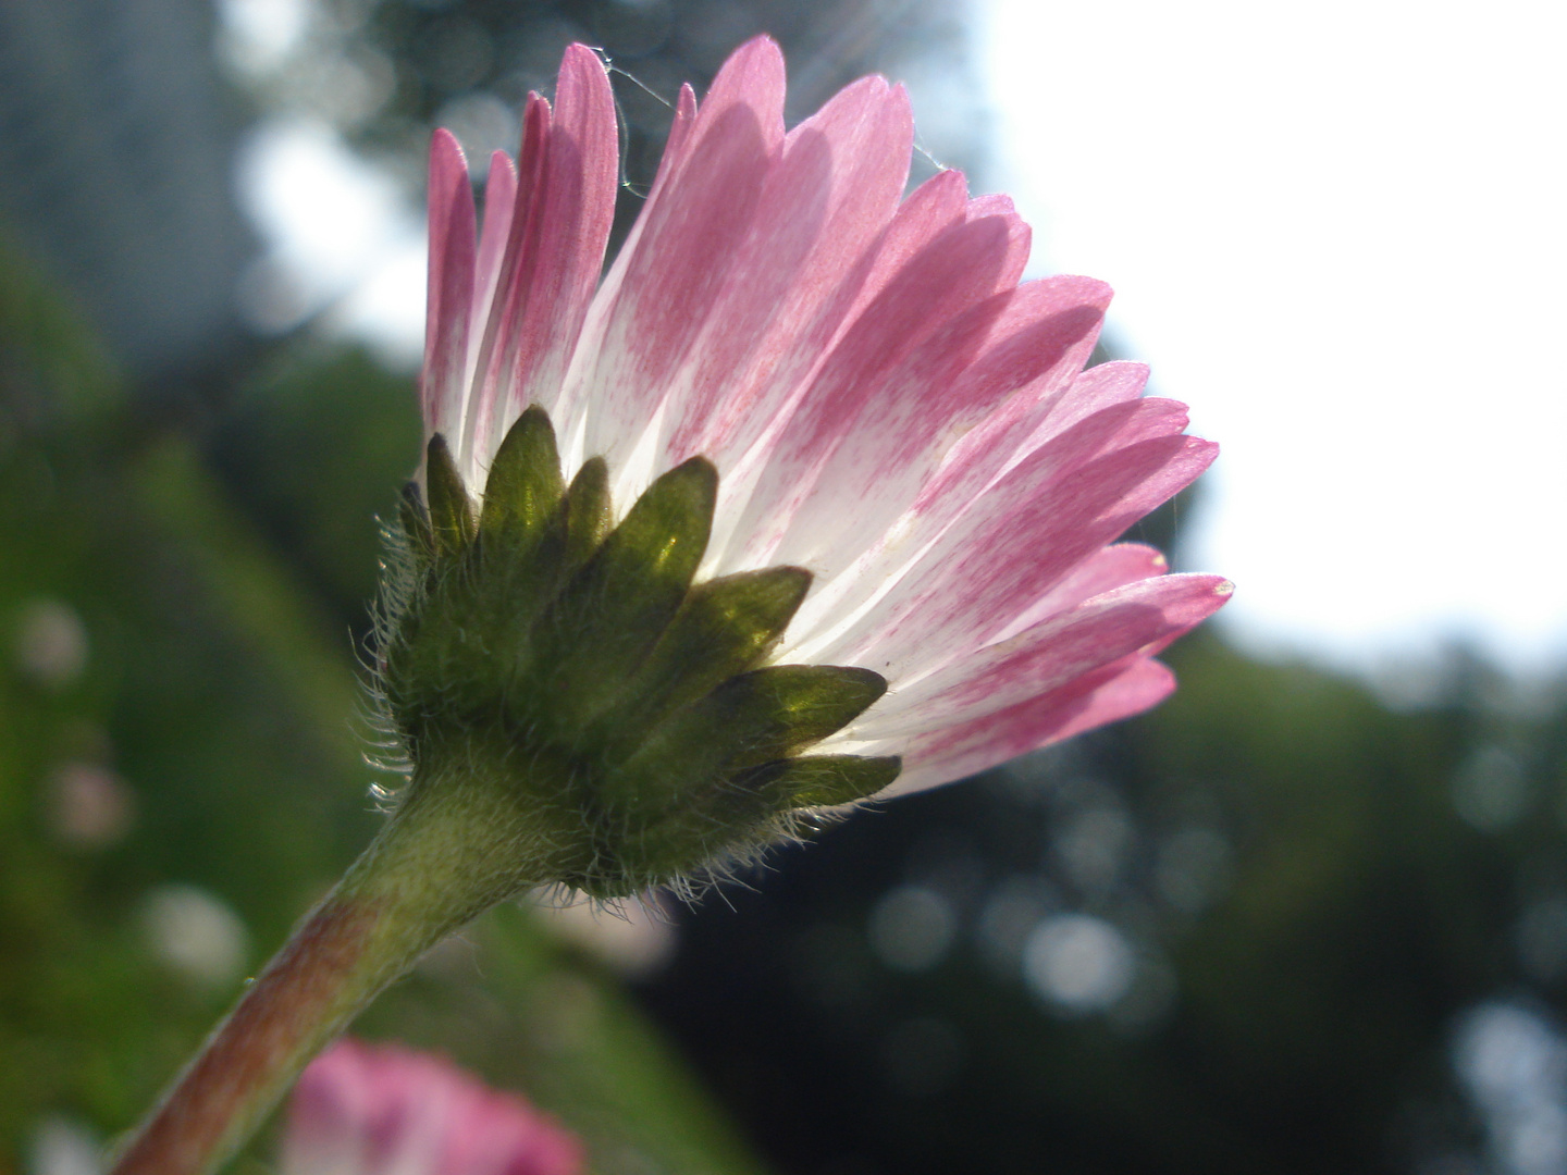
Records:
[[[708,461],[611,525],[603,459],[567,486],[530,407],[478,517],[439,436],[425,481],[400,511],[412,584],[389,592],[385,703],[411,788],[516,805],[520,880],[613,898],[702,876],[896,779],[896,758],[802,754],[887,689],[868,669],[768,664],[809,572],[694,583],[718,501]]]

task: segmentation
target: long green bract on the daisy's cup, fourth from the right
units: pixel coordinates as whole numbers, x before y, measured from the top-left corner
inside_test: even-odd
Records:
[[[680,611],[707,550],[718,472],[700,457],[658,478],[539,620],[530,699],[572,739],[624,697],[632,675]]]

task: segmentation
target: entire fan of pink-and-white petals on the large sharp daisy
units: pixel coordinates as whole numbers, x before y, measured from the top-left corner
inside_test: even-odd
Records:
[[[1083,370],[1111,291],[1023,282],[1030,230],[945,171],[903,199],[912,118],[868,77],[790,132],[758,38],[700,110],[682,89],[641,216],[600,282],[617,190],[608,77],[566,50],[490,160],[483,233],[456,139],[429,172],[422,382],[470,487],[530,404],[567,476],[608,459],[624,509],[694,454],[719,472],[702,575],[813,575],[774,663],[860,666],[887,696],[813,754],[901,755],[887,794],[1152,707],[1153,660],[1219,577],[1111,545],[1216,446],[1147,370]]]

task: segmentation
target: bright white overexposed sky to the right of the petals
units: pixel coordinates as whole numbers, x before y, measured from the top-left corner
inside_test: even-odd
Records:
[[[1224,451],[1185,562],[1263,649],[1567,656],[1567,8],[978,0],[1034,271]]]

